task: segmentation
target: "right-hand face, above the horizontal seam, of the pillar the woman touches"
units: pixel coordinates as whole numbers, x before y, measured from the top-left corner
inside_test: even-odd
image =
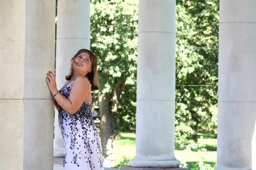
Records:
[[[52,99],[45,77],[55,68],[55,2],[26,1],[24,99]]]

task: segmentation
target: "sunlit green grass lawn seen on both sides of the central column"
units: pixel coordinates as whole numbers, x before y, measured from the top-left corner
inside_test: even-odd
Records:
[[[217,139],[215,135],[204,135],[198,134],[198,137],[203,136],[204,139],[198,139],[198,143],[206,144],[207,152],[205,152],[204,159],[205,162],[211,164],[212,167],[215,167],[217,160]],[[123,156],[132,159],[136,155],[135,149],[135,138],[136,135],[134,132],[121,132],[121,137],[116,138],[115,143],[115,159],[116,164],[123,160]],[[189,141],[189,142],[192,142]],[[178,149],[178,144],[175,144],[175,157],[180,160],[183,150]],[[193,170],[194,165],[198,161],[198,152],[189,152],[186,157],[186,163],[188,168]]]

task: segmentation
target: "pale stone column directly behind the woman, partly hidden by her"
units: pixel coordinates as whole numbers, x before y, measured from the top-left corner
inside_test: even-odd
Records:
[[[70,73],[70,60],[81,48],[90,49],[90,0],[58,1],[56,82],[57,88],[65,83]],[[61,136],[58,111],[55,110],[54,157],[65,157],[65,145]]]

